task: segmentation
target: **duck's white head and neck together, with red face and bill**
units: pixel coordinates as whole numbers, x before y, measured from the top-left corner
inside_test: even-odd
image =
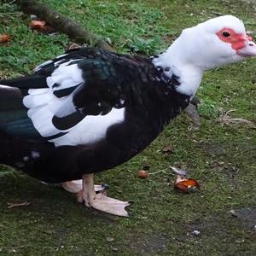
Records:
[[[179,90],[195,94],[205,70],[252,55],[256,55],[256,44],[247,36],[243,22],[235,16],[224,15],[184,29],[169,49],[153,62],[159,67],[171,67],[172,72],[182,76],[181,82],[191,84],[190,91],[185,91],[185,86]],[[185,81],[186,73],[191,77],[189,81]]]

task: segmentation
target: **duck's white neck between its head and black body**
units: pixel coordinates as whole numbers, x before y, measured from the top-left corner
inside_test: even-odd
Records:
[[[193,65],[189,61],[189,55],[183,50],[183,44],[179,38],[161,55],[154,57],[155,67],[160,67],[170,77],[174,74],[178,77],[177,92],[187,96],[195,96],[201,84],[203,69]]]

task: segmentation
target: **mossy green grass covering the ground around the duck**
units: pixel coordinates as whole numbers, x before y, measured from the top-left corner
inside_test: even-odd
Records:
[[[249,1],[44,2],[109,38],[123,53],[159,53],[184,27],[218,14],[237,15],[247,30],[256,31]],[[0,33],[12,35],[0,46],[0,77],[29,73],[71,44],[63,34],[32,32],[28,21],[15,5],[0,5]],[[134,201],[130,218],[87,209],[74,195],[2,166],[0,255],[255,255],[255,229],[230,214],[255,208],[255,129],[218,122],[220,108],[236,109],[233,118],[256,121],[255,69],[252,59],[207,72],[198,92],[199,131],[190,131],[190,120],[181,115],[142,154],[97,175],[97,182],[110,184],[109,195]],[[166,145],[174,148],[172,154],[159,152]],[[183,166],[201,191],[177,193],[171,172],[140,179],[137,170],[145,164],[149,172]],[[8,202],[26,200],[28,207],[7,208]]]

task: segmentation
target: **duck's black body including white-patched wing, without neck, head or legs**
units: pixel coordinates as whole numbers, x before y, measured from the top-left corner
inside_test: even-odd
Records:
[[[150,59],[93,48],[0,84],[1,163],[53,183],[131,159],[189,104]]]

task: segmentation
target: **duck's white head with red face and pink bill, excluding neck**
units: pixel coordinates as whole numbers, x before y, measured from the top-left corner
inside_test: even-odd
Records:
[[[232,15],[185,29],[178,41],[183,42],[187,61],[203,70],[256,55],[256,44],[247,36],[243,22]]]

